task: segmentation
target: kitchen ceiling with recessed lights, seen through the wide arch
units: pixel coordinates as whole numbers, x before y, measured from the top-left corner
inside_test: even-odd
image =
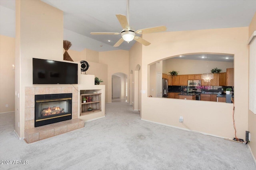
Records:
[[[226,59],[228,58],[228,59]],[[234,55],[220,55],[220,54],[192,54],[192,55],[180,55],[173,57],[172,59],[188,59],[188,60],[202,60],[202,61],[222,61],[222,62],[234,62]]]

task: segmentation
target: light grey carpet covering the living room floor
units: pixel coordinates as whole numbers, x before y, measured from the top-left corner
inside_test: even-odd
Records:
[[[247,145],[140,120],[127,103],[106,104],[106,117],[27,144],[14,135],[14,114],[0,114],[0,160],[13,169],[255,170]]]

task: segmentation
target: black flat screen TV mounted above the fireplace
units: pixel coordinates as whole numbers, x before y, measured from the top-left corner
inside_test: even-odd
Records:
[[[33,58],[33,84],[77,84],[78,64]]]

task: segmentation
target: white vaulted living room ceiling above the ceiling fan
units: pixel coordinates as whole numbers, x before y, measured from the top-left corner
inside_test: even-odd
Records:
[[[72,42],[70,49],[129,50],[134,44],[112,47],[121,35],[90,35],[122,31],[115,15],[127,14],[126,0],[42,1],[64,12],[64,39]],[[14,37],[15,1],[0,0],[0,5],[0,33]],[[167,31],[246,27],[255,12],[256,0],[130,0],[130,25],[134,30],[165,25]]]

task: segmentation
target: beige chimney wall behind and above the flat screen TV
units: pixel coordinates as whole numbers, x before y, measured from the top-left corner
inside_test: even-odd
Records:
[[[20,29],[20,137],[24,137],[25,87],[32,83],[32,58],[63,61],[63,12],[39,0],[16,3]],[[18,5],[18,7],[17,7]],[[17,25],[17,24],[16,24]],[[17,68],[17,67],[16,67]],[[42,86],[42,85],[37,85]],[[18,127],[15,124],[15,129]]]

